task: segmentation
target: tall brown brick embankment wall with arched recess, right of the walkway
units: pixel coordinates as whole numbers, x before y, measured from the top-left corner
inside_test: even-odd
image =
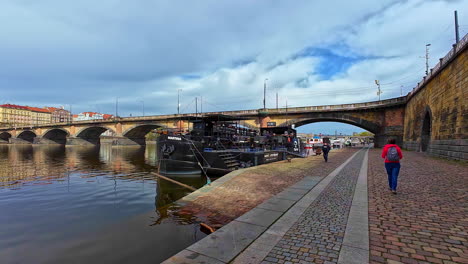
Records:
[[[468,160],[468,45],[411,96],[406,105],[404,144],[419,151],[423,121],[431,117],[427,152]]]

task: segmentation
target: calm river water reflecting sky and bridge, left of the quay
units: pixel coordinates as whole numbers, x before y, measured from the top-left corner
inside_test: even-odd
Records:
[[[0,145],[0,263],[160,263],[203,238],[152,171],[155,145]]]

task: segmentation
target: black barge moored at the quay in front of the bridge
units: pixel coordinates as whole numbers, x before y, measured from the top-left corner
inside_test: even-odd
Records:
[[[163,131],[157,140],[159,172],[173,176],[222,176],[239,168],[300,156],[300,141],[291,127],[241,125],[238,117],[204,116],[191,120],[189,133]]]

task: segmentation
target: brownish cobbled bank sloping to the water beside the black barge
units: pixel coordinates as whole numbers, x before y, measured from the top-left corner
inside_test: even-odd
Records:
[[[328,175],[357,150],[332,150],[328,163],[324,162],[322,156],[311,156],[293,159],[290,163],[281,161],[252,168],[206,195],[182,205],[177,214],[220,228],[305,176]]]

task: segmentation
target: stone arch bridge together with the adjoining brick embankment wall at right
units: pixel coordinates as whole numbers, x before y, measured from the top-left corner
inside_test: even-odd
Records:
[[[376,146],[395,137],[404,148],[434,156],[468,160],[468,34],[406,96],[356,104],[211,112],[242,118],[251,128],[296,127],[336,121],[375,134]],[[155,128],[186,127],[193,114],[81,121],[40,127],[0,128],[0,143],[99,144],[105,131],[114,145],[145,144]]]

